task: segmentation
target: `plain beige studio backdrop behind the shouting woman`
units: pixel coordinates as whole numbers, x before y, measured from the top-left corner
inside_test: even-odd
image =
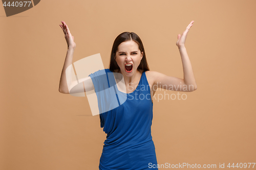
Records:
[[[10,17],[0,8],[0,169],[98,169],[106,136],[99,116],[91,115],[87,98],[58,92],[67,52],[61,20],[75,37],[73,62],[100,53],[108,68],[114,39],[129,31],[142,39],[151,70],[179,78],[177,35],[195,20],[185,45],[198,89],[186,92],[187,100],[154,100],[158,163],[228,169],[255,162],[255,6],[254,0],[48,0]],[[156,95],[164,92],[178,94]]]

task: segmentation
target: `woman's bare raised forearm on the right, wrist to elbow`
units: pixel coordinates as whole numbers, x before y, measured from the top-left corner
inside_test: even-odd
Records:
[[[185,46],[179,47],[179,51],[180,51],[180,56],[182,60],[182,65],[183,65],[184,83],[190,88],[192,86],[193,88],[192,90],[196,90],[197,83],[196,83],[193,68],[188,58]]]

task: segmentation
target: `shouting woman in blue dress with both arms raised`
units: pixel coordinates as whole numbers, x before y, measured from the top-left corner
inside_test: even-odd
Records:
[[[151,136],[153,96],[157,88],[177,91],[197,89],[193,69],[185,48],[186,36],[193,23],[194,21],[191,21],[182,35],[178,35],[176,42],[182,58],[184,79],[150,71],[142,41],[135,33],[124,32],[115,39],[110,68],[103,71],[119,72],[123,76],[126,93],[120,91],[119,88],[116,89],[116,93],[120,100],[123,95],[127,99],[119,107],[100,114],[100,125],[107,136],[99,169],[158,169],[155,146]],[[69,93],[65,70],[72,64],[76,44],[66,23],[62,21],[62,25],[59,26],[68,43],[59,91]],[[86,91],[92,90],[94,87],[96,91],[98,86],[103,83],[102,79],[97,78],[99,71],[91,74],[85,81]],[[108,77],[108,81],[110,79]],[[182,88],[178,88],[180,86]]]

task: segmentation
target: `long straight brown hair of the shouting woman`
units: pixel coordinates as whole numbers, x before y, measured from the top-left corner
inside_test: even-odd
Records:
[[[150,68],[148,67],[148,64],[146,62],[146,54],[145,54],[145,50],[144,50],[144,46],[142,44],[142,41],[140,39],[140,37],[133,33],[133,32],[123,32],[121,34],[119,34],[114,43],[113,43],[113,47],[112,47],[112,51],[111,51],[111,56],[110,56],[110,70],[112,72],[114,72],[115,69],[119,69],[119,66],[117,65],[117,62],[115,60],[115,55],[116,55],[116,51],[117,51],[117,48],[118,48],[118,45],[124,41],[130,41],[130,40],[133,40],[135,41],[138,45],[139,45],[139,49],[140,49],[140,52],[143,52],[143,57],[140,61],[140,65],[138,66],[138,69],[142,69],[143,71],[147,71],[147,70],[150,70]]]

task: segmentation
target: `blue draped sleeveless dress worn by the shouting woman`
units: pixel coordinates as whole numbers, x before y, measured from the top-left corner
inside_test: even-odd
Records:
[[[105,77],[108,83],[103,82],[102,76],[97,76],[102,75],[98,74],[99,71],[106,72],[108,76]],[[113,83],[110,81],[109,73],[113,73],[110,69],[99,71],[89,75],[92,78],[95,92],[106,88],[102,87],[102,84],[110,87]],[[127,99],[121,105],[119,102],[119,106],[115,109],[99,115],[100,127],[107,134],[99,169],[158,169],[150,166],[150,164],[157,165],[157,159],[151,136],[153,103],[145,72],[142,73],[140,82],[132,93],[123,93],[116,86],[115,92],[119,101],[122,95],[125,95]],[[98,94],[97,98],[98,105],[100,105]]]

